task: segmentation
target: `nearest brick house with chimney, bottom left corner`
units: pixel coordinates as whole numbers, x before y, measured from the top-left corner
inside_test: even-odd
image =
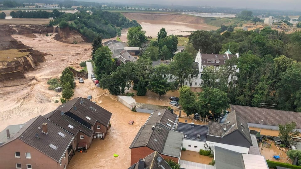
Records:
[[[0,132],[1,168],[65,169],[73,155],[74,136],[43,116]]]

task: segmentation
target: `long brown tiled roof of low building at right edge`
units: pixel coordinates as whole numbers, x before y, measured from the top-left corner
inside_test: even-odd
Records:
[[[263,125],[278,126],[279,124],[284,125],[287,122],[294,121],[296,122],[296,128],[301,129],[300,112],[231,105],[231,111],[233,110],[247,123],[261,124],[261,120],[263,120]]]

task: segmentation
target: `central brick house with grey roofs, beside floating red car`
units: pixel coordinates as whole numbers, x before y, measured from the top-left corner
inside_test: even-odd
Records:
[[[179,162],[184,133],[173,131],[177,120],[178,116],[167,109],[154,111],[129,147],[131,166],[154,151],[164,159]]]

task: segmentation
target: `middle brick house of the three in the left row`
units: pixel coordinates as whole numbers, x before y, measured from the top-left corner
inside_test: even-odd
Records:
[[[44,115],[44,117],[73,134],[75,136],[75,145],[77,145],[77,148],[89,149],[93,139],[93,130],[64,113],[61,113],[60,110],[54,110]]]

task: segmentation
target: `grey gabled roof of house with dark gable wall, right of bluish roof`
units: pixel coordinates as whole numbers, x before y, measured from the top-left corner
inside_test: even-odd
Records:
[[[225,119],[225,123],[209,122],[208,128],[209,128],[208,131],[209,135],[219,136],[219,137],[226,136],[232,133],[233,131],[237,130],[252,145],[249,126],[235,111],[232,111],[227,115]],[[226,131],[224,131],[224,128],[226,128]]]

